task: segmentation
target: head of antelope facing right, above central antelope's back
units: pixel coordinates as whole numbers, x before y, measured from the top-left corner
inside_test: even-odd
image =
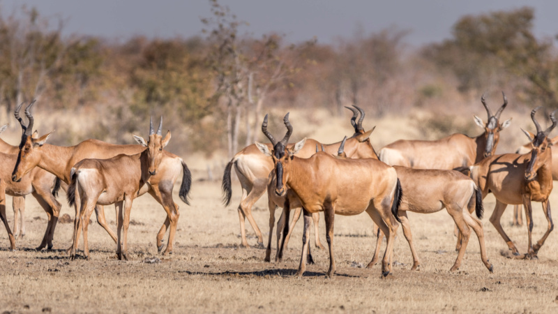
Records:
[[[374,126],[371,130],[365,131],[362,127],[362,121],[364,120],[364,110],[356,105],[352,107],[345,107],[348,110],[353,112],[353,117],[351,118],[351,124],[354,128],[354,135],[349,139],[347,143],[347,151],[352,158],[377,158],[377,154],[372,147],[372,143],[370,142],[370,135],[376,128]],[[359,113],[361,117],[359,121],[356,121],[356,118],[359,117]]]

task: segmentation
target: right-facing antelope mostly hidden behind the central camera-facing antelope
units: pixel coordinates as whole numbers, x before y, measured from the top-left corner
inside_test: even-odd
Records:
[[[364,131],[362,127],[362,121],[364,119],[364,111],[361,108],[356,107],[359,112],[361,112],[361,117],[358,122],[356,122],[356,110],[347,107],[349,110],[352,110],[353,117],[351,119],[351,123],[355,128],[354,135],[347,140],[347,144],[345,150],[347,152],[347,156],[350,158],[377,158],[376,152],[374,148],[372,148],[372,144],[370,143],[370,134],[374,130]],[[315,154],[314,147],[316,144],[320,144],[315,140],[307,140],[306,143],[308,144],[306,147],[303,147],[296,156],[301,158],[308,158]],[[324,149],[326,152],[335,154],[337,149],[339,148],[340,142],[336,142],[333,144],[324,144]],[[268,145],[269,149],[272,149],[271,144]],[[286,144],[287,147],[293,147],[294,144]],[[225,206],[228,206],[231,201],[232,197],[232,185],[231,185],[231,170],[234,166],[234,170],[236,171],[236,176],[239,178],[241,187],[242,187],[242,197],[238,207],[239,212],[239,221],[240,221],[240,230],[241,230],[241,246],[248,246],[248,241],[246,241],[246,229],[244,227],[244,220],[248,218],[248,222],[252,226],[252,229],[256,233],[257,236],[257,245],[263,246],[264,238],[262,236],[262,232],[259,230],[254,218],[252,217],[252,206],[259,200],[259,197],[262,197],[266,192],[267,183],[268,183],[268,176],[269,172],[273,170],[273,161],[271,158],[264,156],[260,153],[257,149],[255,144],[249,145],[239,151],[232,160],[227,164],[225,168],[225,173],[223,174],[223,202]],[[281,203],[282,204],[282,203]],[[271,205],[270,205],[271,206]],[[271,227],[275,223],[275,217],[273,213],[275,212],[275,206],[270,207],[270,217],[269,217],[269,225],[270,230],[273,230]],[[318,248],[323,248],[322,244],[319,241],[319,236],[317,232],[317,221],[319,220],[319,216],[315,216],[315,245]],[[270,232],[271,237],[271,232]],[[270,239],[271,241],[271,239]],[[271,242],[270,242],[271,243]],[[266,255],[268,256],[268,255]],[[269,256],[266,258],[269,261]]]

